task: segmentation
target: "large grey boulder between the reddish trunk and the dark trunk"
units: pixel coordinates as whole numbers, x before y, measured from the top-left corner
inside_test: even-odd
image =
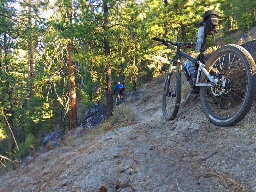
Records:
[[[81,128],[88,129],[95,127],[103,119],[105,119],[106,115],[107,114],[105,104],[99,103],[89,106],[81,123]]]

